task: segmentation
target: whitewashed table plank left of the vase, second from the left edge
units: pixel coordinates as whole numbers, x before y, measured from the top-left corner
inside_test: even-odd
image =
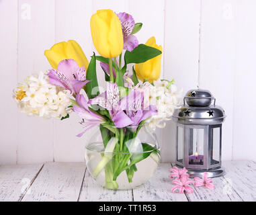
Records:
[[[22,201],[77,201],[85,163],[46,163]]]

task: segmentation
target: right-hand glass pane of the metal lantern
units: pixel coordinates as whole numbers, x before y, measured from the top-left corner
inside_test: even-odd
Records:
[[[220,128],[212,128],[212,148],[210,150],[211,165],[220,163]]]

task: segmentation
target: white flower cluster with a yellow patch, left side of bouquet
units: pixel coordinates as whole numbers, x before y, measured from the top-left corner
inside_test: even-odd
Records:
[[[14,90],[13,98],[21,112],[29,116],[62,118],[71,112],[71,93],[49,83],[46,73],[26,77]]]

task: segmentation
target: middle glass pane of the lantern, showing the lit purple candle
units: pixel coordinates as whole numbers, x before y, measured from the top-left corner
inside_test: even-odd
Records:
[[[189,165],[204,165],[204,128],[189,129]]]

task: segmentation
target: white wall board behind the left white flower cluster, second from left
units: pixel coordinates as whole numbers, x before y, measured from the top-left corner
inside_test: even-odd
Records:
[[[54,44],[54,1],[19,1],[18,81],[49,69],[44,50]],[[53,121],[18,114],[18,163],[53,160]]]

